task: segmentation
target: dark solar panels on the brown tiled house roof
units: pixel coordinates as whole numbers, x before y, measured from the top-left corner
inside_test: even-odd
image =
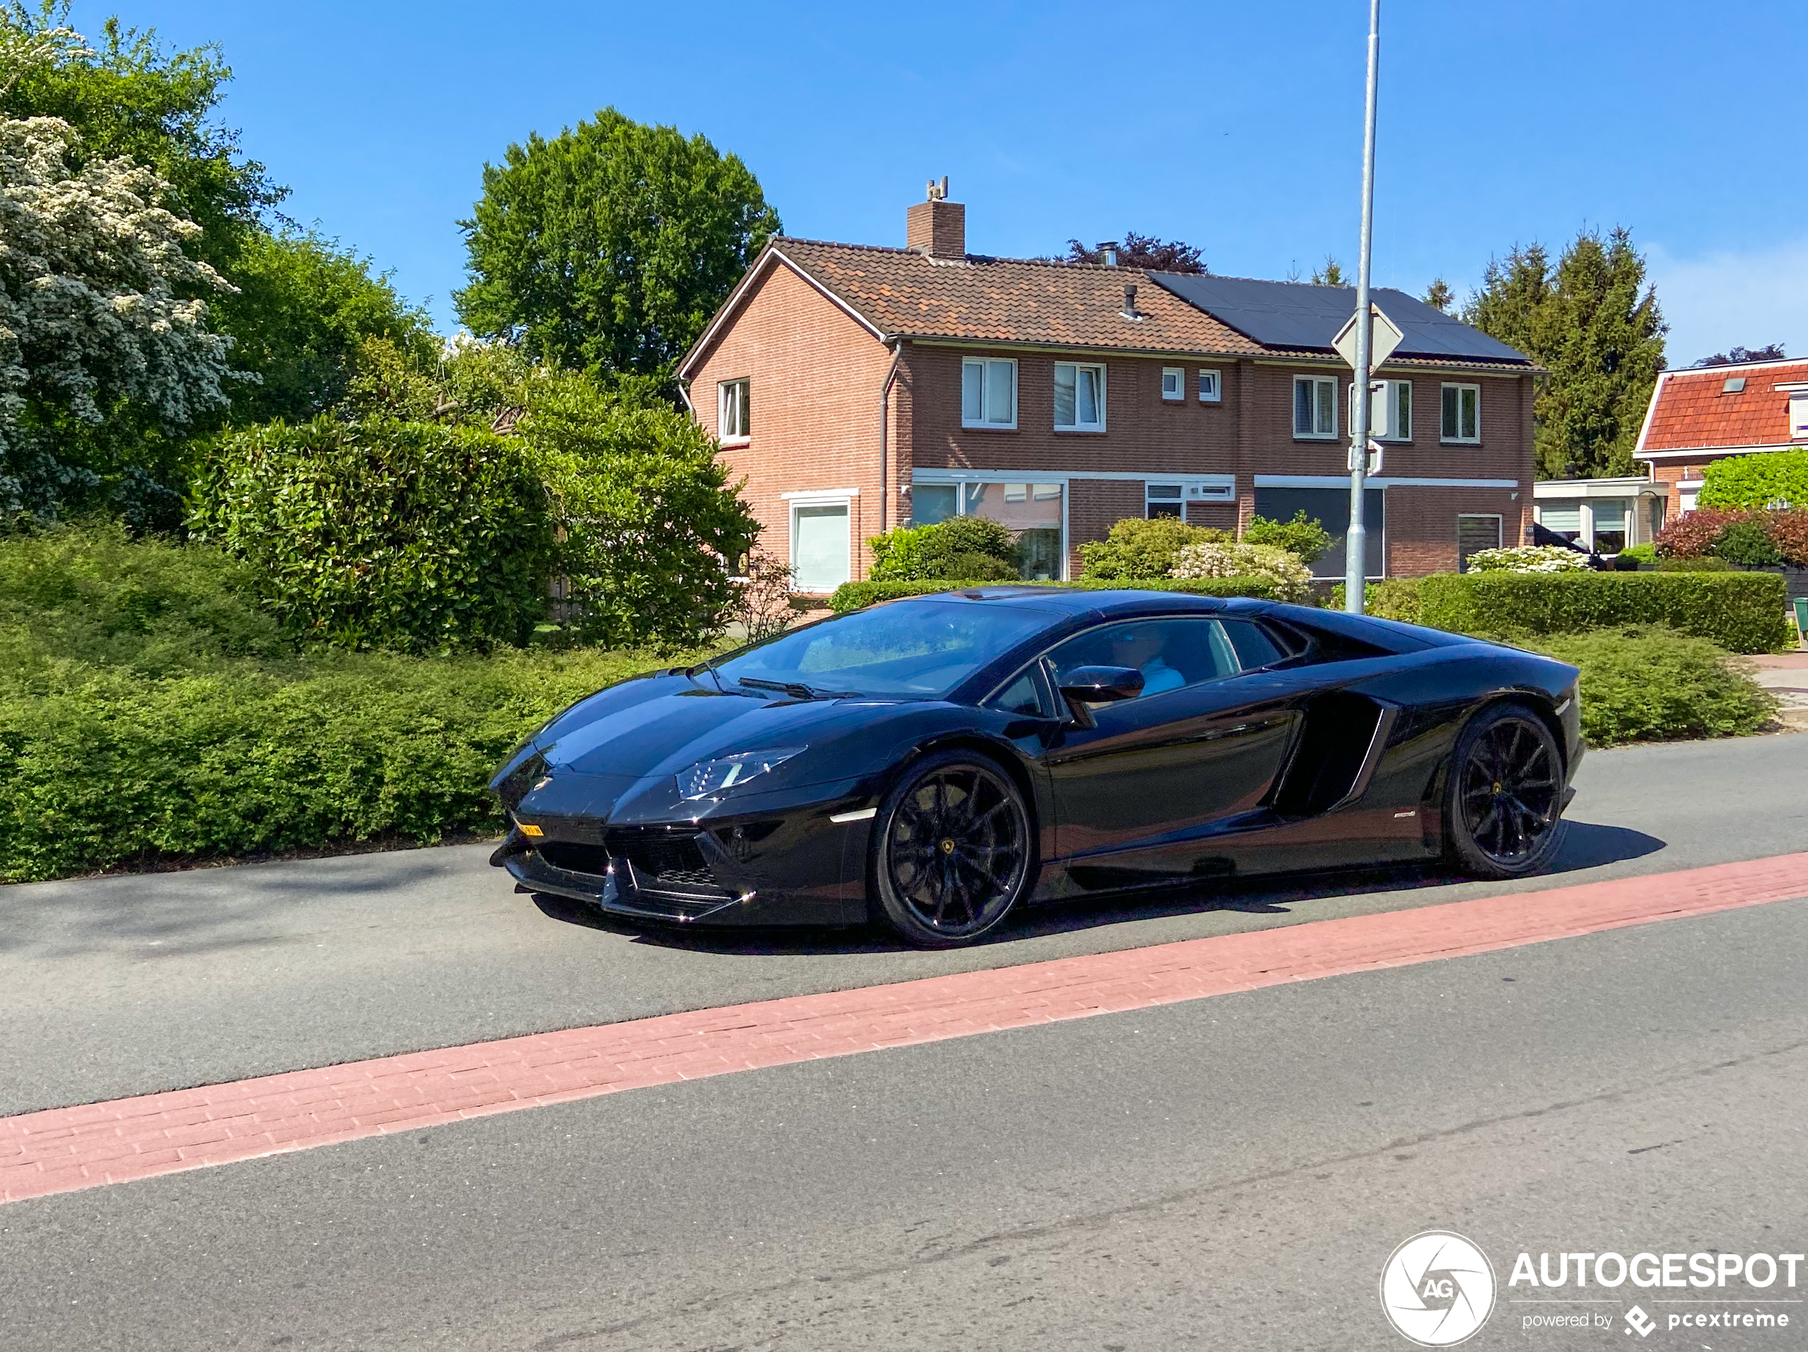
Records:
[[[1264,347],[1331,349],[1343,322],[1356,313],[1352,286],[1300,286],[1298,282],[1257,282],[1246,277],[1190,273],[1150,273],[1164,291],[1172,291],[1193,309],[1202,309],[1237,333]],[[1432,309],[1423,300],[1392,287],[1369,293],[1405,334],[1399,356],[1459,356],[1472,361],[1530,361],[1499,338],[1472,329],[1463,320]]]

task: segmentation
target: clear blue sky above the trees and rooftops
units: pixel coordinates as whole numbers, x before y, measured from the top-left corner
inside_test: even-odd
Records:
[[[394,269],[445,331],[486,159],[615,105],[702,132],[794,235],[904,242],[947,174],[975,251],[1125,230],[1213,271],[1356,257],[1363,0],[501,7],[78,0],[219,42],[222,116],[287,211]],[[1687,363],[1808,354],[1799,4],[1385,0],[1376,280],[1466,295],[1490,253],[1624,222]]]

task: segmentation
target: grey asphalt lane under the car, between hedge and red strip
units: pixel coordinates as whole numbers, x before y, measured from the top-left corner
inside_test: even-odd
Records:
[[[1808,848],[1808,737],[1593,752],[1558,869]],[[960,953],[868,931],[665,936],[542,915],[488,846],[0,887],[0,1113],[947,971],[1510,891],[1436,873],[1248,882],[1025,915]]]

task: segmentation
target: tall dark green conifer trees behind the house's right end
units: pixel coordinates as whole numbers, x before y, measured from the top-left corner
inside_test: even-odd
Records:
[[[1540,244],[1492,258],[1463,318],[1549,371],[1537,399],[1540,477],[1634,472],[1669,325],[1629,230],[1584,230],[1555,268]]]

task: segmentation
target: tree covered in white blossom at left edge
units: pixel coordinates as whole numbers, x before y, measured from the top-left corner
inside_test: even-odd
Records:
[[[0,121],[0,452],[33,414],[99,425],[136,401],[177,430],[228,401],[201,296],[231,286],[183,253],[201,228],[130,159],[71,170],[74,145],[58,117]]]

